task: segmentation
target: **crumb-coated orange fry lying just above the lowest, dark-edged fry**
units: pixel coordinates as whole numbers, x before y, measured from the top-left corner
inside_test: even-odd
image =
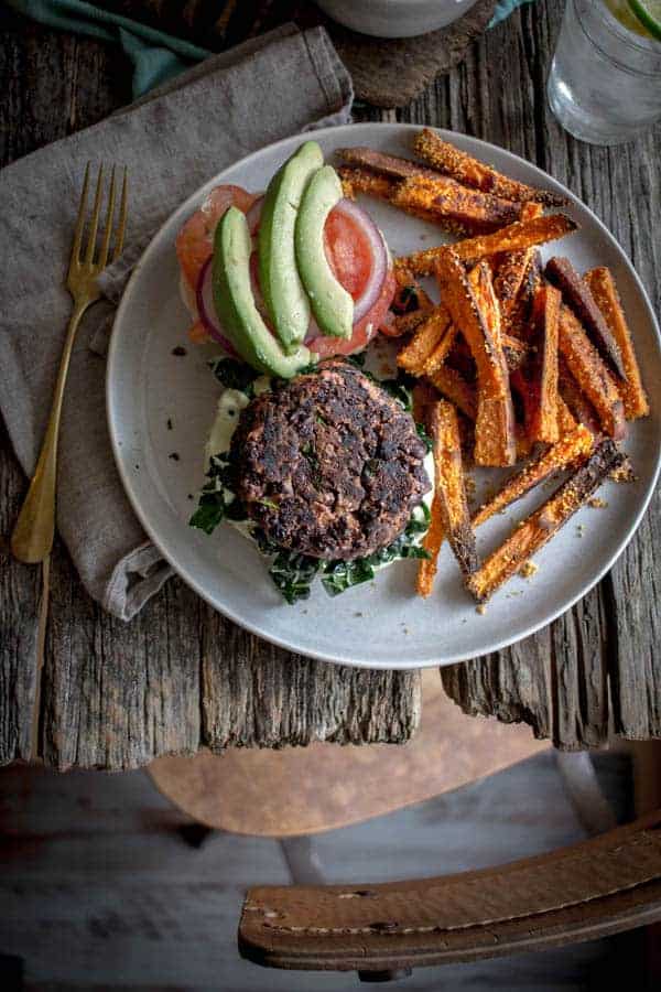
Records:
[[[524,465],[520,472],[510,476],[502,488],[473,515],[473,527],[479,527],[496,514],[502,513],[517,499],[525,496],[535,486],[545,482],[550,475],[564,468],[576,465],[586,459],[593,450],[595,439],[583,424],[578,424],[566,434],[544,449],[532,462]]]

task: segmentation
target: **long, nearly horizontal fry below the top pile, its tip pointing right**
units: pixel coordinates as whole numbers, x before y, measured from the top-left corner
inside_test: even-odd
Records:
[[[402,256],[401,263],[408,266],[414,276],[431,276],[438,259],[452,250],[472,268],[480,259],[501,251],[522,251],[534,245],[554,241],[576,230],[578,225],[565,214],[550,214],[532,220],[516,220],[492,234],[465,238],[454,245],[438,245],[413,255]]]

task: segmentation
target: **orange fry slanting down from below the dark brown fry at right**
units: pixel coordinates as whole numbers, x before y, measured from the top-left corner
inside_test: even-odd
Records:
[[[617,386],[576,315],[561,306],[559,347],[582,391],[594,406],[605,433],[621,440],[627,433],[625,408]]]

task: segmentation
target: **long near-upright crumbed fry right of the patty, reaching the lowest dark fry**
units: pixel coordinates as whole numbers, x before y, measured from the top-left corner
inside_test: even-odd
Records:
[[[477,550],[466,498],[459,424],[453,405],[438,400],[430,411],[430,427],[434,442],[434,495],[438,496],[443,530],[462,572],[469,575],[477,569]]]

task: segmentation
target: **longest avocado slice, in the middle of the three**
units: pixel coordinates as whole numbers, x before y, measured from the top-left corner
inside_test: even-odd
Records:
[[[267,312],[285,352],[305,337],[310,302],[296,268],[294,227],[303,191],[324,164],[316,141],[306,141],[275,173],[259,227],[259,280]]]

